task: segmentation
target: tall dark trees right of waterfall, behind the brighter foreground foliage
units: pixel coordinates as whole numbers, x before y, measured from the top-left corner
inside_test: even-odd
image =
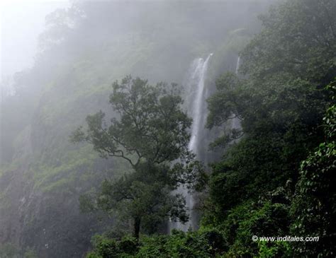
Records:
[[[216,81],[218,90],[208,99],[208,127],[225,127],[237,117],[241,129],[225,130],[213,143],[213,147],[225,146],[225,153],[220,162],[213,164],[210,209],[204,220],[207,224],[228,228],[235,209],[247,204],[247,209],[254,210],[252,203],[279,187],[289,192],[292,201],[299,180],[309,192],[309,196],[302,192],[300,197],[302,203],[297,209],[303,219],[300,224],[305,224],[306,233],[319,232],[319,235],[326,230],[332,235],[331,221],[335,219],[330,205],[335,180],[330,172],[324,172],[323,176],[317,172],[317,176],[314,172],[317,167],[310,163],[302,168],[301,160],[323,142],[323,117],[332,102],[325,85],[336,76],[336,16],[332,15],[335,11],[336,2],[331,0],[291,0],[271,8],[262,16],[261,32],[240,53],[242,76],[229,73]],[[326,147],[320,146],[319,153],[323,162],[331,163],[326,158],[331,154],[323,151]],[[315,163],[317,158],[310,157],[309,162]],[[321,199],[318,199],[311,192],[310,182],[322,177],[326,186],[320,185]],[[306,189],[302,187],[300,191]],[[285,200],[276,205],[289,206]],[[318,211],[310,216],[316,205]],[[329,215],[323,213],[326,210]],[[267,219],[271,218],[268,216]],[[283,218],[284,222],[276,227],[285,233],[293,217]],[[310,224],[308,218],[315,224]],[[247,218],[240,218],[240,224],[247,223]],[[249,243],[253,247],[250,233],[244,235],[245,247]],[[231,248],[239,254],[234,246]],[[319,253],[315,242],[307,243],[305,248],[310,256]]]

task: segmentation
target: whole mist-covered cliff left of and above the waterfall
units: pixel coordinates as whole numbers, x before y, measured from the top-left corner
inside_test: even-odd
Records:
[[[213,90],[214,78],[235,64],[237,49],[230,45],[246,40],[228,32],[245,24],[239,17],[252,17],[253,6],[233,20],[225,13],[234,6],[220,2],[157,3],[155,11],[112,2],[84,1],[50,16],[43,39],[53,43],[32,69],[16,75],[16,95],[1,102],[0,245],[31,247],[39,257],[82,257],[91,236],[113,221],[81,213],[79,196],[129,168],[99,158],[91,146],[69,143],[69,134],[89,113],[111,117],[111,83],[128,74],[181,84],[191,61],[213,52],[207,81]],[[76,27],[67,28],[62,17]],[[65,40],[55,43],[58,37]]]

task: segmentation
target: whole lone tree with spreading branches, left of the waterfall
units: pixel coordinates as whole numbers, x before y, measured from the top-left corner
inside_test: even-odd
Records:
[[[115,182],[103,182],[94,204],[86,207],[122,211],[133,218],[135,238],[146,221],[156,225],[170,216],[186,222],[184,198],[172,190],[193,184],[202,170],[188,150],[191,119],[181,111],[177,85],[150,86],[127,76],[113,83],[110,103],[116,112],[110,125],[101,111],[89,115],[86,132],[79,127],[71,140],[91,143],[103,158],[123,158],[134,171]],[[83,197],[82,203],[87,200]]]

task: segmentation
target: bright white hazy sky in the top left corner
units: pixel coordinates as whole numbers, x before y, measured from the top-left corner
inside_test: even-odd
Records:
[[[33,64],[45,16],[67,6],[67,0],[0,0],[0,81]]]

